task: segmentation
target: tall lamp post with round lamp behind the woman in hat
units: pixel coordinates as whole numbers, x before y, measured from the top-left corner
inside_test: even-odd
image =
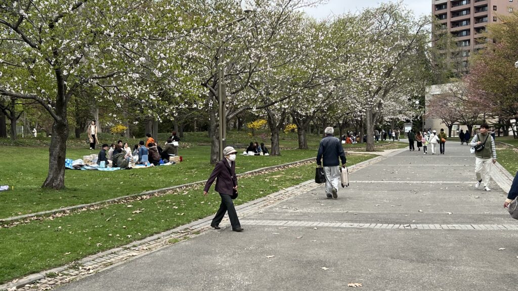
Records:
[[[246,14],[223,25],[223,28],[232,26],[247,19],[248,15],[255,10],[254,0],[242,0],[241,9]],[[220,37],[221,38],[221,37]],[[223,149],[226,147],[226,85],[223,71],[224,47],[218,52],[218,119],[219,119],[219,159],[223,159]]]

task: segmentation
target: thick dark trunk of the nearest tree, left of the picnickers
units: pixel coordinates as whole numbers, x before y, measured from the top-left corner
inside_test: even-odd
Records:
[[[65,109],[66,110],[66,109]],[[41,186],[54,190],[65,188],[65,156],[66,141],[68,138],[68,122],[63,117],[62,122],[54,121],[52,124],[52,138],[49,147],[49,173],[47,180]]]

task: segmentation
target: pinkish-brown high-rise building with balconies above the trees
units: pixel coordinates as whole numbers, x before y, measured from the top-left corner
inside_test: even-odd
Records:
[[[431,0],[432,11],[443,28],[452,33],[461,55],[467,57],[485,46],[482,33],[498,15],[518,9],[518,0]]]

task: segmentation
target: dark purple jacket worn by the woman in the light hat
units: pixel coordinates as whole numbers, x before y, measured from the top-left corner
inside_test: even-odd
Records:
[[[228,166],[226,158],[224,158],[223,161],[216,163],[214,170],[210,174],[209,180],[205,183],[203,191],[209,192],[209,188],[216,178],[218,178],[218,180],[216,181],[214,190],[221,194],[232,196],[234,186],[237,186],[236,162],[232,162],[232,166],[230,167]]]

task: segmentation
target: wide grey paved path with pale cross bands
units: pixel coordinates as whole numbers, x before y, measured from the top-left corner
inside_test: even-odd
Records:
[[[405,151],[58,290],[516,290],[518,222],[467,146]],[[499,250],[503,249],[503,250]]]

